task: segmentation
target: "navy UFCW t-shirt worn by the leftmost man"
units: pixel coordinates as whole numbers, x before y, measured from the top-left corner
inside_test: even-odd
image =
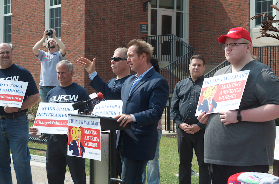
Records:
[[[0,69],[0,83],[1,80],[15,80],[15,81],[23,81],[28,82],[28,86],[26,89],[26,93],[24,95],[23,101],[31,95],[39,93],[37,85],[32,77],[32,74],[24,67],[12,64],[12,66]],[[0,95],[1,95],[1,86],[0,86]],[[8,104],[9,105],[9,104]],[[22,110],[21,112],[26,112],[28,109]],[[21,112],[13,112],[6,113],[4,111],[4,107],[0,107],[0,115],[10,115],[10,114],[18,114]]]

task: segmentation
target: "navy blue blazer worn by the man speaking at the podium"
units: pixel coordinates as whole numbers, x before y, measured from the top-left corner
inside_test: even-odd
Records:
[[[169,95],[168,82],[152,68],[129,95],[135,79],[133,75],[122,85],[110,88],[97,75],[89,85],[103,93],[106,100],[122,99],[122,113],[133,114],[136,118],[137,124],[131,124],[131,129],[122,130],[123,156],[136,160],[153,160],[158,141],[157,125]]]

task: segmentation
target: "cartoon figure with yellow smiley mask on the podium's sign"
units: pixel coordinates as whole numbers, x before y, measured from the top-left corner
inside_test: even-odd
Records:
[[[72,127],[71,134],[71,142],[69,144],[69,151],[73,150],[72,155],[83,157],[85,153],[85,149],[82,146],[81,141],[81,127]]]

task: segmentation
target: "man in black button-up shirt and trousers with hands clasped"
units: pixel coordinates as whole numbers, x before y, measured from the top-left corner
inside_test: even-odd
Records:
[[[179,154],[179,184],[191,183],[193,148],[199,164],[199,183],[210,184],[208,166],[203,162],[203,136],[205,125],[195,117],[201,87],[203,85],[205,61],[201,55],[190,59],[190,77],[177,82],[173,92],[170,116],[178,126],[177,147]]]

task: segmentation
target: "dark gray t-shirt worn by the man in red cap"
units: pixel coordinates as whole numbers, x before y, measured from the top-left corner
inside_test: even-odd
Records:
[[[265,64],[253,60],[241,71],[250,70],[239,110],[266,104],[279,104],[279,80]],[[232,65],[214,76],[232,72]],[[204,135],[204,162],[227,166],[273,164],[275,121],[244,122],[229,125],[221,122],[219,113],[210,114]]]

